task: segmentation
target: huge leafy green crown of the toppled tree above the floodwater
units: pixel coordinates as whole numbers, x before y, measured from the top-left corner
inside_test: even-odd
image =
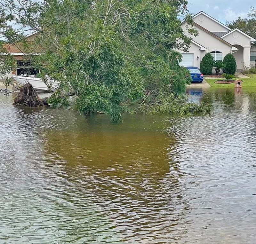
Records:
[[[187,4],[187,0],[4,0],[0,35],[4,47],[19,48],[43,80],[47,75],[60,82],[49,100],[51,106],[67,105],[66,94],[75,91],[80,112],[102,111],[121,121],[130,104],[140,104],[156,89],[174,96],[185,93],[191,77],[179,65],[182,56],[176,50],[187,52],[188,34],[197,35]],[[36,35],[29,39],[24,30]]]

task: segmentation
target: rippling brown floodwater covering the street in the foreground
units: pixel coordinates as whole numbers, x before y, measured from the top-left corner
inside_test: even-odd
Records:
[[[0,243],[255,243],[256,92],[208,116],[13,107],[0,94]]]

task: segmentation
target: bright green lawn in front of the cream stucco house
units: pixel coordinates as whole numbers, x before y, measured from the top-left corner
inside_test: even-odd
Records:
[[[248,92],[255,92],[256,91],[256,75],[247,75],[250,77],[250,79],[246,78],[237,78],[241,79],[243,81],[242,83],[242,88],[243,91],[248,91]],[[216,87],[216,88],[234,88],[234,83],[231,84],[216,84],[214,83],[215,81],[221,80],[222,78],[216,78],[216,79],[207,79],[206,81],[211,85],[211,87]],[[224,79],[224,78],[223,78]]]

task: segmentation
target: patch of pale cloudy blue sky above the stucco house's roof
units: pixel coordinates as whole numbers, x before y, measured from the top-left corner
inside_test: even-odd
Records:
[[[204,11],[223,24],[236,20],[239,16],[247,17],[251,6],[256,7],[255,0],[188,0],[188,9],[196,14]]]

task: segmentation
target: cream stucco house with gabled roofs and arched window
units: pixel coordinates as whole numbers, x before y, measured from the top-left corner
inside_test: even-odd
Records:
[[[201,11],[193,16],[197,36],[191,36],[192,44],[187,53],[182,53],[182,66],[200,67],[205,53],[210,52],[214,60],[223,60],[226,54],[233,53],[236,59],[237,71],[255,65],[256,40],[239,29],[230,29],[210,15]],[[186,30],[187,23],[183,23]]]

